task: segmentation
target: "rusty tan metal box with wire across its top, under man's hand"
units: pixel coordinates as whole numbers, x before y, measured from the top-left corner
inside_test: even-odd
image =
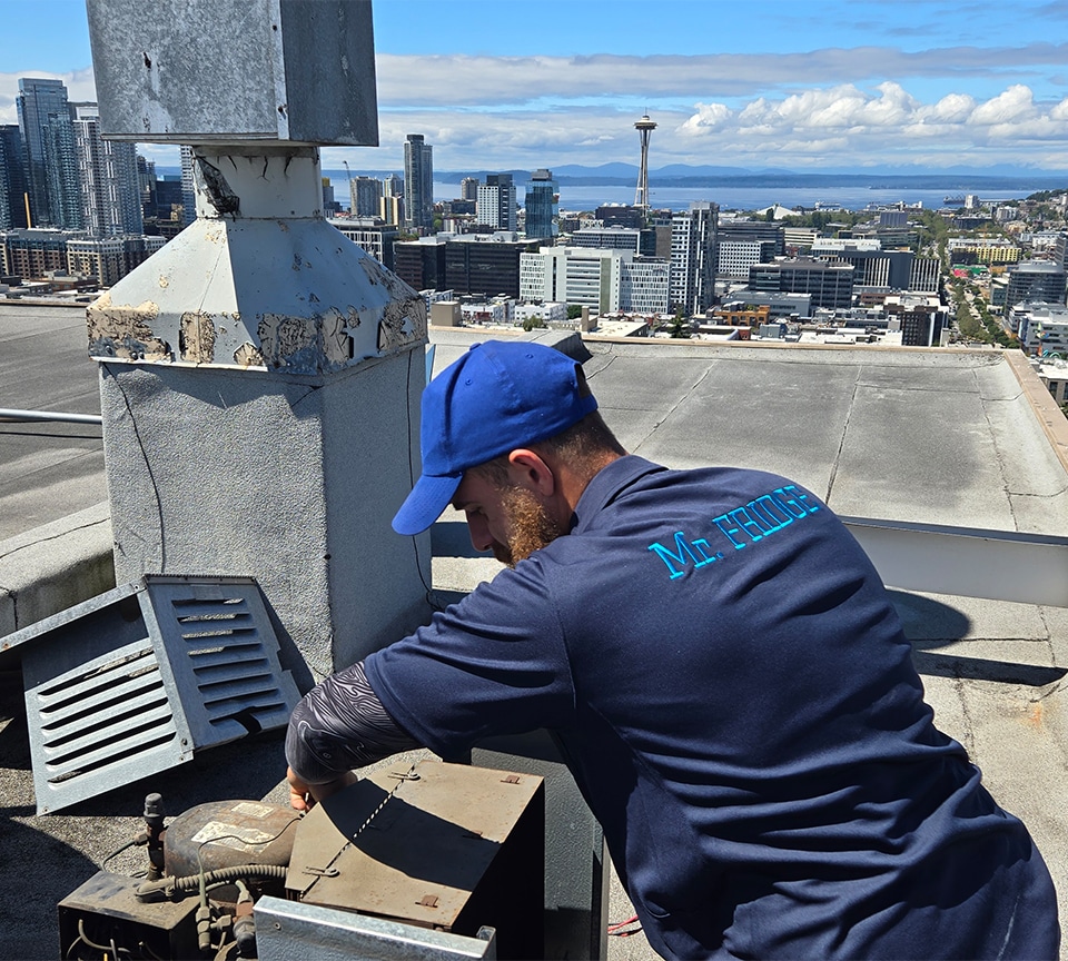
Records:
[[[419,927],[472,933],[490,925],[512,957],[513,908],[527,902],[530,944],[541,934],[543,818],[537,775],[396,765],[312,810],[297,830],[286,886],[306,903]],[[525,850],[512,858],[517,848]]]

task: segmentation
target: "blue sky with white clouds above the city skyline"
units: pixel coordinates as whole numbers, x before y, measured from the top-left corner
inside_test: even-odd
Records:
[[[83,0],[0,23],[0,122],[20,77],[95,99]],[[647,113],[652,170],[1068,171],[1065,0],[375,0],[374,23],[380,146],[328,169],[399,171],[407,133],[436,170],[636,165]]]

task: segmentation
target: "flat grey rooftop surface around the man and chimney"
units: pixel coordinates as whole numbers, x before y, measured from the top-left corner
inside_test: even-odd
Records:
[[[506,335],[434,328],[435,369],[485,336]],[[606,420],[644,457],[778,472],[852,517],[1068,537],[1068,422],[1019,351],[596,337],[578,349]],[[0,305],[0,384],[6,407],[99,413],[81,313]],[[0,561],[38,525],[106,502],[99,434],[0,424]],[[432,543],[435,590],[469,591],[497,567],[473,554],[458,514],[435,525]],[[939,725],[1028,824],[1068,918],[1068,597],[1046,606],[890,586]],[[281,799],[275,736],[37,818],[21,685],[4,666],[0,790],[11,863],[24,868],[0,881],[16,922],[0,931],[0,957],[55,955],[55,904],[138,830],[147,790],[172,813],[236,795]],[[141,858],[128,852],[109,868]],[[616,891],[609,920],[624,911]],[[610,958],[650,957],[641,938],[611,940]]]

